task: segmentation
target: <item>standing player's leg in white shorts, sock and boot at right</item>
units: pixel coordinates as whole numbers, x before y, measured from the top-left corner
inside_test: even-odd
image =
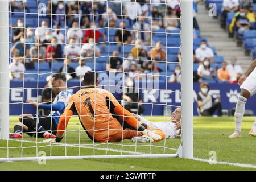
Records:
[[[242,137],[241,125],[243,115],[245,114],[245,104],[247,100],[255,93],[256,85],[254,84],[254,82],[255,77],[253,76],[253,74],[251,74],[249,77],[246,78],[246,80],[241,85],[241,93],[237,97],[236,111],[234,113],[236,129],[234,133],[229,136],[229,138]]]

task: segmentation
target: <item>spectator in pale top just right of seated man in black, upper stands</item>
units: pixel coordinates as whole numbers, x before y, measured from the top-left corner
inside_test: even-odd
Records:
[[[147,23],[146,18],[139,17],[138,21],[133,25],[133,30],[136,31],[136,37],[141,39],[145,45],[151,44],[151,26]]]

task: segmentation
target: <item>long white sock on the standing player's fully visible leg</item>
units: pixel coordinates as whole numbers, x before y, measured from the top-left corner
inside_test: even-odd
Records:
[[[237,97],[237,105],[236,105],[236,111],[235,111],[235,122],[236,122],[236,130],[238,133],[241,133],[241,125],[243,120],[243,115],[245,114],[245,104],[246,104],[247,98],[239,95]]]

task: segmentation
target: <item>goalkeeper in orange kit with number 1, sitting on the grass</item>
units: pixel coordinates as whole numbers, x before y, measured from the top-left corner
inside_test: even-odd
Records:
[[[124,109],[112,93],[97,88],[98,73],[86,72],[84,88],[69,98],[68,105],[60,117],[55,139],[46,142],[60,142],[73,113],[77,113],[88,137],[94,142],[119,142],[123,139],[143,136],[147,142],[164,139],[164,131],[148,130],[129,111]]]

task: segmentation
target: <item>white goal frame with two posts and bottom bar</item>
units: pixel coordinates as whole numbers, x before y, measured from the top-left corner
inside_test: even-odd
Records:
[[[0,1],[0,139],[9,140],[9,1]],[[193,5],[181,0],[181,145],[176,154],[46,156],[44,159],[193,158]],[[0,158],[0,162],[42,157]]]

